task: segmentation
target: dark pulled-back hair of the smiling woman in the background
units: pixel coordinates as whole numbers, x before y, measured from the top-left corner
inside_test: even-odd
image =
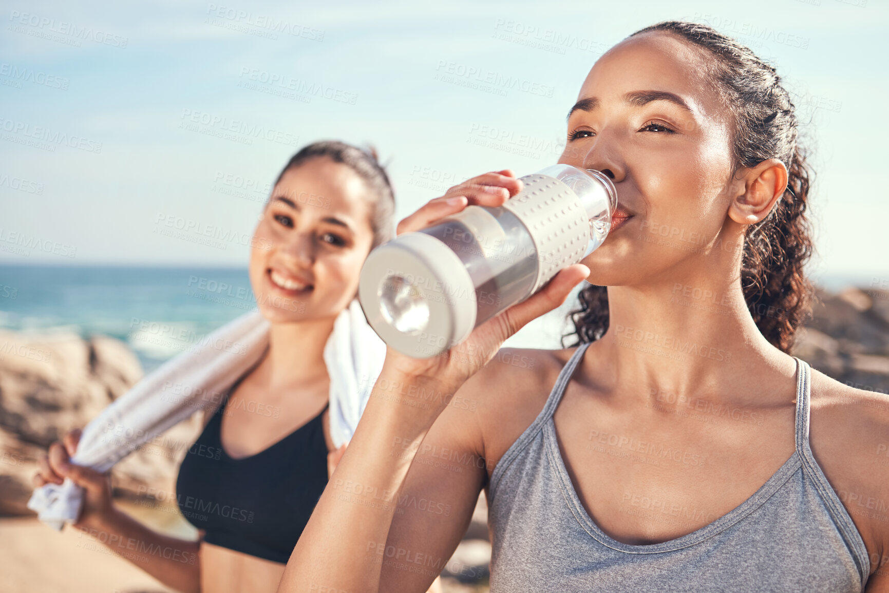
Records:
[[[364,180],[373,196],[371,228],[373,243],[371,249],[386,243],[395,236],[395,193],[386,174],[386,169],[377,159],[377,151],[372,146],[358,148],[339,140],[322,140],[308,144],[293,155],[275,180],[275,185],[284,173],[306,163],[313,158],[329,158],[356,172]]]

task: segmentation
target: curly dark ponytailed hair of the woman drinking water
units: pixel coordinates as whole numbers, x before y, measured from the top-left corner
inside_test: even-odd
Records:
[[[637,36],[665,32],[708,50],[715,58],[706,76],[731,106],[735,130],[735,170],[769,158],[788,169],[788,188],[764,220],[747,228],[741,262],[741,287],[759,331],[778,349],[789,352],[797,327],[811,312],[812,284],[803,273],[812,255],[812,228],[805,217],[813,172],[797,143],[797,116],[775,68],[749,47],[716,29],[669,20],[638,30]],[[628,37],[628,38],[629,38]],[[608,292],[590,284],[580,294],[580,309],[568,314],[577,342],[596,341],[608,330]]]

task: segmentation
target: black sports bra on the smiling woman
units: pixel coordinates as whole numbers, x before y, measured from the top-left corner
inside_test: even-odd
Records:
[[[220,440],[230,394],[188,449],[176,501],[207,543],[286,563],[327,485],[324,411],[268,449],[232,459]]]

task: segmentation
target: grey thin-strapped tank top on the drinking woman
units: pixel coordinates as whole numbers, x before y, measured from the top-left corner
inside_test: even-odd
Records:
[[[709,525],[676,540],[630,545],[589,517],[557,445],[553,413],[588,346],[573,353],[541,413],[493,470],[492,593],[864,589],[867,549],[809,448],[804,361],[796,359],[797,445],[789,460]]]

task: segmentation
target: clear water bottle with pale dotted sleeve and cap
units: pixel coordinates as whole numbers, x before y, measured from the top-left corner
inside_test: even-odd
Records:
[[[467,206],[370,253],[358,300],[382,341],[434,357],[605,241],[617,191],[603,172],[555,164],[521,180],[502,206]]]

